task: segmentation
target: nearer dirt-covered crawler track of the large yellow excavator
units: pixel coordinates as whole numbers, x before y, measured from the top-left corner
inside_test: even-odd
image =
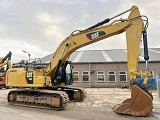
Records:
[[[17,89],[8,93],[8,102],[18,106],[63,110],[69,103],[69,97],[63,91]]]

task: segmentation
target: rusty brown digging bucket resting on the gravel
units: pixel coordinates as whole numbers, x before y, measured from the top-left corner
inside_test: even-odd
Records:
[[[131,98],[113,107],[120,114],[132,116],[147,116],[152,112],[152,98],[137,85],[131,87]]]

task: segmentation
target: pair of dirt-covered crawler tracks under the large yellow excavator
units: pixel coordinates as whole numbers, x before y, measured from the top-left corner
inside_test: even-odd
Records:
[[[8,93],[8,102],[11,105],[53,110],[65,109],[69,100],[81,102],[85,98],[84,90],[69,87],[59,87],[57,90],[26,88],[11,90]]]

